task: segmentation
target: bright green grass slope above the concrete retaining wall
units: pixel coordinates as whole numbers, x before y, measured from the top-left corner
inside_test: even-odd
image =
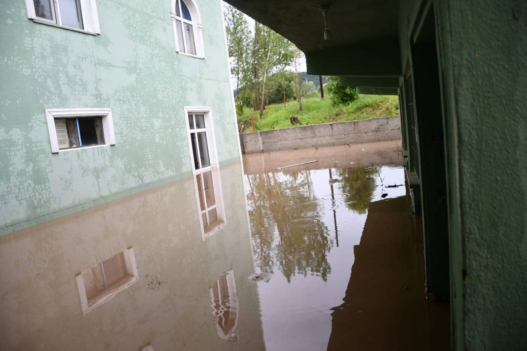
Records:
[[[289,128],[293,125],[289,116],[298,117],[300,125],[323,124],[330,122],[357,121],[359,119],[396,116],[399,114],[399,101],[397,96],[390,95],[359,95],[349,105],[334,106],[331,99],[324,100],[316,97],[302,100],[302,111],[298,112],[296,101],[286,104],[269,105],[264,111],[264,116],[259,117],[259,111],[250,108],[243,109],[243,114],[238,116],[238,124],[245,126],[245,132],[252,132],[250,117],[255,120],[257,131],[269,129]],[[297,124],[298,125],[298,124]]]

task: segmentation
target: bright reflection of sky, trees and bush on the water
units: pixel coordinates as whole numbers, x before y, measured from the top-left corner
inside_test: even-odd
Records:
[[[267,350],[327,348],[370,203],[405,195],[382,187],[400,166],[303,167],[246,174],[256,269],[274,274],[257,283]]]

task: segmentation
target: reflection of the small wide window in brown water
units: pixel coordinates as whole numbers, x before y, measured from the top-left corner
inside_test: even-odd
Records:
[[[139,280],[133,248],[86,269],[76,280],[82,311],[88,313]]]

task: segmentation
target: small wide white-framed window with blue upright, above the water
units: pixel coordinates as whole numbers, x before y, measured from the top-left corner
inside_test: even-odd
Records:
[[[109,108],[46,109],[46,119],[52,153],[115,144]]]

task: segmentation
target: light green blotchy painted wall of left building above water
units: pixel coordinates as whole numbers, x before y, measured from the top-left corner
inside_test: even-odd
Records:
[[[170,0],[97,2],[101,35],[0,3],[0,234],[191,174],[183,106],[210,106],[239,159],[219,0],[197,0],[205,59],[175,52]],[[52,154],[45,108],[109,107],[116,145]]]

